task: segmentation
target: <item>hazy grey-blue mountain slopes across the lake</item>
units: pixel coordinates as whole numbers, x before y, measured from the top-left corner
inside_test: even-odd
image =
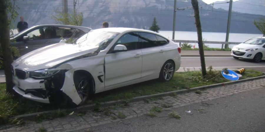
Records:
[[[198,0],[203,6],[200,10],[202,30],[204,32],[226,32],[228,11],[214,9]],[[24,0],[18,1],[19,14],[25,17],[29,26],[38,24],[56,24],[52,15],[62,11],[62,0]],[[156,17],[160,30],[172,30],[173,0],[79,0],[78,12],[84,15],[82,26],[92,29],[101,28],[104,21],[110,27],[131,27],[149,29]],[[177,8],[191,6],[191,0],[178,0]],[[73,10],[72,0],[68,0],[69,12]],[[196,31],[193,10],[176,12],[177,31]],[[261,15],[232,13],[231,33],[261,33],[253,24],[254,19]],[[19,20],[16,21],[16,23]],[[15,24],[16,24],[15,23]],[[244,28],[243,28],[244,27]]]

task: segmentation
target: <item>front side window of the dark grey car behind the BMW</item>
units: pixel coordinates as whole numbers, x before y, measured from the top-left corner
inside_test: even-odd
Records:
[[[27,33],[27,36],[29,36],[29,40],[38,40],[38,39],[52,38],[52,33],[53,33],[52,27],[40,27]]]

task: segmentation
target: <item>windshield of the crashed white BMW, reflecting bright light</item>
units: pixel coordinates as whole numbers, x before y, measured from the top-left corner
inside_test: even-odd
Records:
[[[65,43],[77,44],[81,47],[97,48],[104,50],[119,33],[107,32],[107,31],[90,31],[77,38],[74,41],[66,41]]]

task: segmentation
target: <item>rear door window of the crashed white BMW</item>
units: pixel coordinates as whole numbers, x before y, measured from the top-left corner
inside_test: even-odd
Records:
[[[155,35],[151,33],[140,33],[139,42],[140,48],[160,46]]]

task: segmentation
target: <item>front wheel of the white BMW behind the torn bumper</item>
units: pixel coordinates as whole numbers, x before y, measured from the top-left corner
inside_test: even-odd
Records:
[[[85,101],[89,98],[89,96],[91,95],[91,88],[90,88],[90,79],[85,76],[85,75],[81,75],[81,76],[76,76],[77,78],[74,79],[74,85],[75,85],[75,89],[77,91],[77,94],[79,95],[79,97],[81,98],[81,103],[78,105],[82,105],[85,103]]]

